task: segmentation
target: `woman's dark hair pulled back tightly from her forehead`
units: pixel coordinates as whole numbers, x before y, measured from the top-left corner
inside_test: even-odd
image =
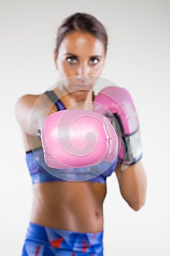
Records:
[[[87,13],[77,12],[74,15],[69,16],[58,29],[56,37],[56,52],[61,45],[61,42],[67,34],[82,31],[92,34],[94,37],[104,43],[105,53],[107,52],[107,31],[104,26],[93,15]]]

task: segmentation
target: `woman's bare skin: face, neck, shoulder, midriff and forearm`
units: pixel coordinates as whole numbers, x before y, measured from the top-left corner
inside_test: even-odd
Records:
[[[82,32],[68,34],[54,60],[60,76],[54,89],[66,108],[93,110],[93,85],[104,67],[103,43]],[[95,76],[95,77],[94,77]],[[69,78],[69,79],[66,79]],[[27,94],[18,99],[16,116],[23,134],[25,151],[41,146],[36,138],[44,118],[57,111],[45,94]],[[116,169],[120,192],[135,211],[144,204],[146,177],[142,162],[125,171]],[[44,182],[33,185],[34,200],[31,222],[74,232],[103,230],[103,203],[106,184],[76,182]]]

